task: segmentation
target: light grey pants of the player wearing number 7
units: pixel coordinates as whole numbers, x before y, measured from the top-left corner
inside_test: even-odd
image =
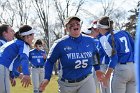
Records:
[[[112,93],[136,93],[134,63],[117,64],[112,78]]]

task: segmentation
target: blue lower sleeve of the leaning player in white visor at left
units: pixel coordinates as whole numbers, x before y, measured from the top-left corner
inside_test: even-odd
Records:
[[[29,72],[29,60],[26,54],[20,54],[20,61],[22,66],[22,72],[24,75],[30,75]]]

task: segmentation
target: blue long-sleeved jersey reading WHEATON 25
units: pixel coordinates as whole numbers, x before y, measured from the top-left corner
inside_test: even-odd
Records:
[[[54,63],[60,60],[60,77],[75,80],[92,73],[93,58],[97,52],[95,39],[80,35],[77,38],[65,36],[57,40],[47,57],[45,79],[50,80]],[[95,66],[95,70],[99,69]]]

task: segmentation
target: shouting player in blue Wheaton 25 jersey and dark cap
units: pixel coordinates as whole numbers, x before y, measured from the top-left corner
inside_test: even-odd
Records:
[[[48,54],[45,79],[40,85],[40,90],[43,91],[48,85],[53,65],[57,59],[60,59],[59,93],[96,93],[92,74],[93,64],[95,64],[93,59],[97,52],[96,41],[92,37],[81,34],[80,21],[78,17],[66,19],[65,26],[69,35],[53,44]],[[102,76],[103,73],[99,71],[99,66],[94,67],[96,72]]]

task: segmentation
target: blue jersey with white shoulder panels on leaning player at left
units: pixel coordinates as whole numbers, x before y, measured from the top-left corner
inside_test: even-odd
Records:
[[[23,74],[29,75],[29,50],[29,45],[22,40],[13,40],[7,42],[2,47],[0,47],[0,64],[14,72],[17,71],[18,66],[21,64]]]

